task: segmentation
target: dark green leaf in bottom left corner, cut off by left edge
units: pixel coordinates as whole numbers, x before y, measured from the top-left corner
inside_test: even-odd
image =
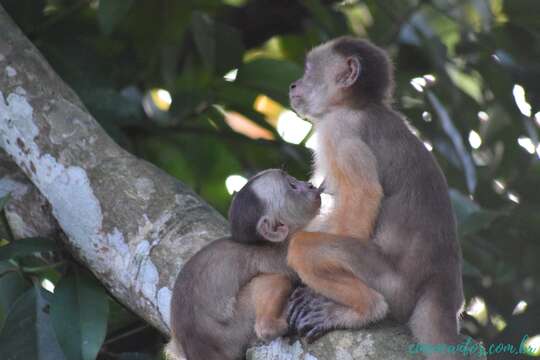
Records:
[[[65,360],[52,329],[47,292],[35,284],[12,306],[0,332],[3,360]]]

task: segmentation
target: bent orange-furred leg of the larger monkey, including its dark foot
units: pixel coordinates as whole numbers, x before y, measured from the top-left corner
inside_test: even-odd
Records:
[[[310,292],[298,295],[304,299],[288,310],[290,324],[297,330],[317,328],[320,333],[335,328],[357,328],[382,319],[388,311],[383,296],[354,274],[349,259],[343,255],[346,251],[340,239],[323,233],[300,232],[291,240],[289,265],[307,286],[327,298],[323,301]],[[304,309],[295,312],[298,307]],[[302,316],[292,315],[295,313]]]

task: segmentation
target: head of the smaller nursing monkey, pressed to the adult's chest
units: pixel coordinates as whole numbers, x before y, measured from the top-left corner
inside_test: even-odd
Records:
[[[265,170],[235,194],[229,209],[234,241],[281,242],[318,213],[321,190],[278,169]]]

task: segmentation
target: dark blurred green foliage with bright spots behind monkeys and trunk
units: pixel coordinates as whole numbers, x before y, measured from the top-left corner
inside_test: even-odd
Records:
[[[540,349],[540,1],[0,4],[119,144],[223,214],[230,193],[261,169],[309,176],[311,126],[287,97],[306,52],[343,34],[386,48],[397,69],[394,106],[451,187],[465,259],[463,332],[487,345],[519,346],[528,335]],[[8,359],[157,356],[159,334],[55,241],[25,239],[17,250],[4,238]],[[29,256],[36,251],[45,253]],[[58,355],[37,346],[44,339]],[[24,354],[23,343],[32,345]]]

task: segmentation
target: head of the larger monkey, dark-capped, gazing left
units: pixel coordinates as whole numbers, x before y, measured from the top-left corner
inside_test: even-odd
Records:
[[[289,89],[292,108],[311,121],[335,107],[386,103],[392,96],[392,66],[385,51],[344,36],[313,49],[304,75]]]

